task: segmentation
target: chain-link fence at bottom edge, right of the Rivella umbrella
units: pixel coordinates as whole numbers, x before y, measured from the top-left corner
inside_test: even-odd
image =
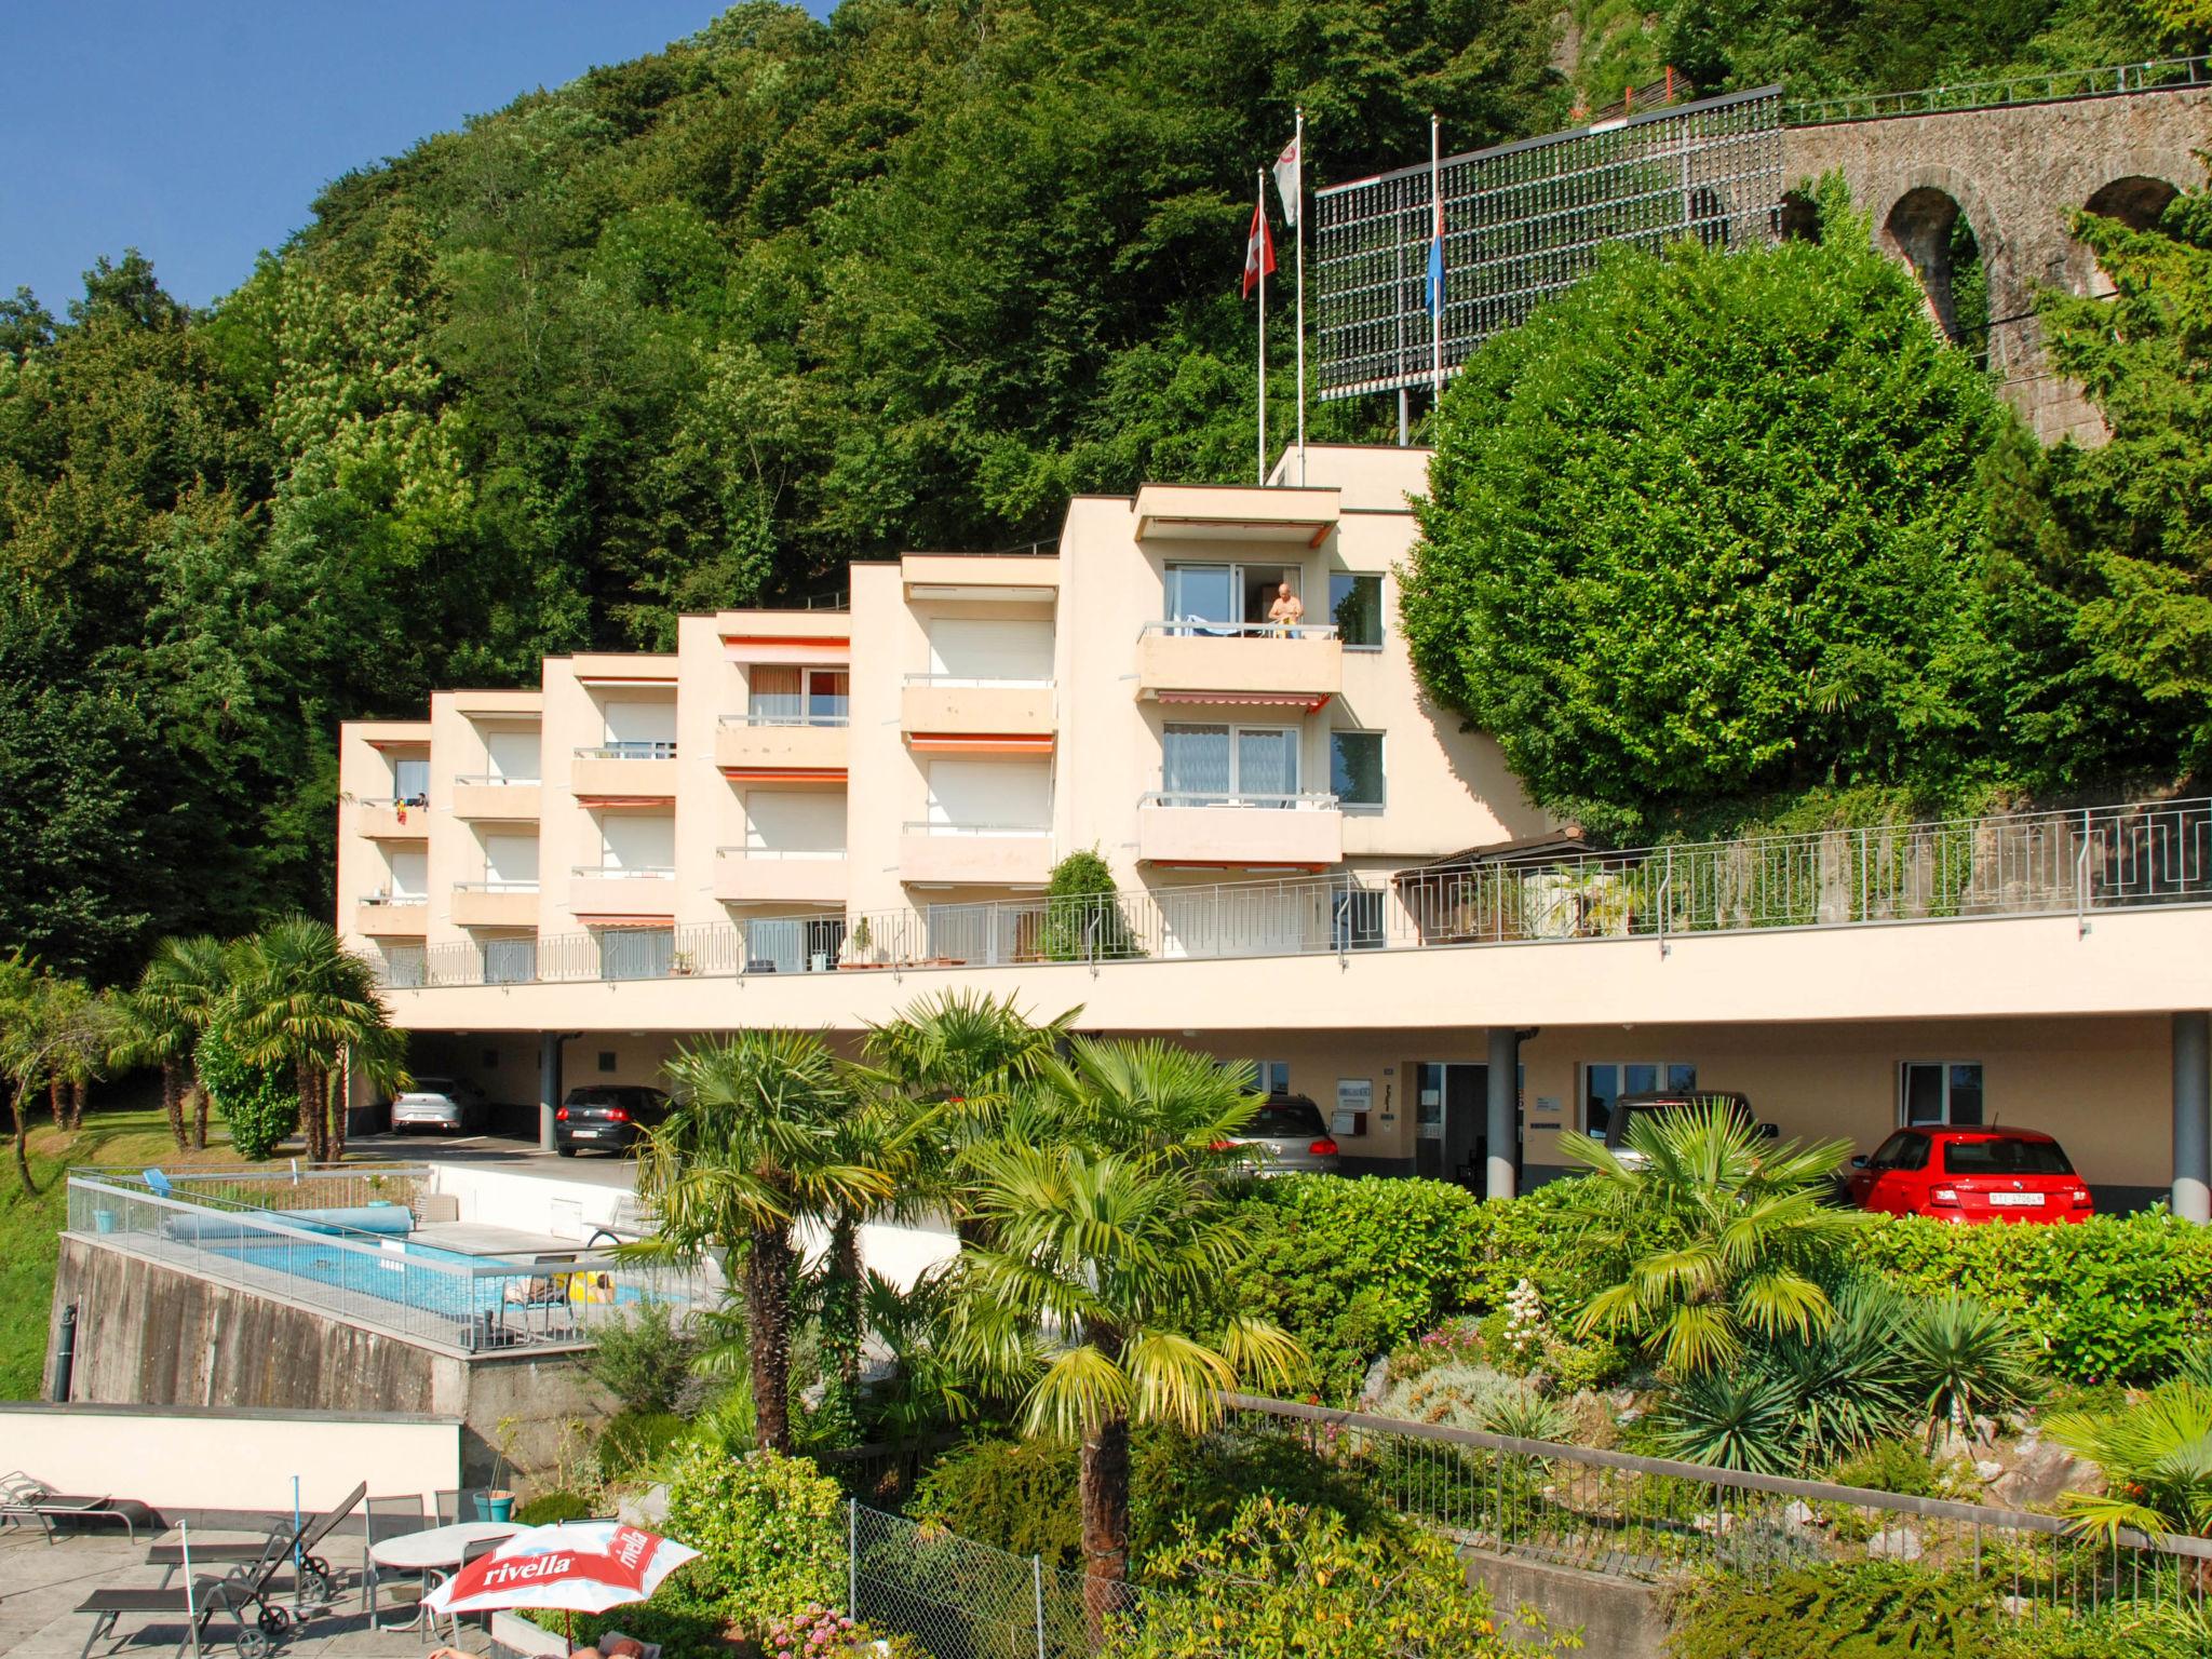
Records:
[[[1077,1659],[1144,1617],[1128,1584],[1044,1566],[854,1502],[849,1601],[863,1624],[936,1659]]]

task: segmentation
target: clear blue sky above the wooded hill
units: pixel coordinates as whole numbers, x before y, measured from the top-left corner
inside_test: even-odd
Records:
[[[821,15],[832,0],[807,0]],[[697,33],[717,0],[4,0],[0,294],[53,310],[139,248],[192,305],[316,190],[414,139]]]

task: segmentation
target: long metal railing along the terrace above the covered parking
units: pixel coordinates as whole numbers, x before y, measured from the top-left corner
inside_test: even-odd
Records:
[[[1172,794],[1172,792],[1170,792]],[[1318,803],[1316,803],[1318,805]],[[1234,807],[1223,807],[1234,810]],[[1259,807],[1265,810],[1265,807]],[[907,825],[911,834],[1046,834]],[[2212,905],[2212,801],[538,940],[538,980],[1334,956]],[[484,984],[473,945],[425,982]],[[617,971],[604,971],[613,962]],[[655,967],[657,964],[657,967]],[[513,982],[513,980],[502,980]]]

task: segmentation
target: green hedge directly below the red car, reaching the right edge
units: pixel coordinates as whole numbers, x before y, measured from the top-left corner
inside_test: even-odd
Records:
[[[1918,1296],[2013,1314],[2070,1383],[2157,1383],[2212,1329],[2212,1234],[2163,1210],[2068,1228],[1951,1228],[1876,1217],[1849,1256]]]

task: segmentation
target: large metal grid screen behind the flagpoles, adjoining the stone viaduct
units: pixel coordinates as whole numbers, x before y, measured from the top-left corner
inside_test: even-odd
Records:
[[[1314,195],[1312,334],[1323,398],[1427,385],[1429,239],[1444,219],[1442,367],[1582,281],[1608,243],[1774,234],[1781,86],[1624,115]]]

